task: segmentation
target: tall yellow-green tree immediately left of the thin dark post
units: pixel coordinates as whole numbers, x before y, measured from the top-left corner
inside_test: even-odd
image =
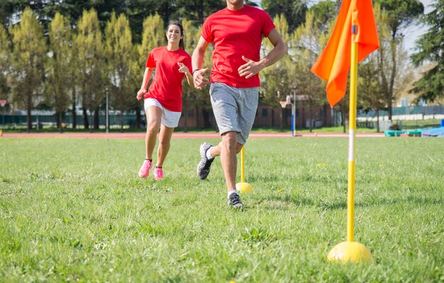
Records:
[[[89,128],[89,122],[92,123],[92,114],[103,103],[105,95],[104,76],[106,74],[101,37],[96,11],[84,11],[77,24],[74,44],[77,52],[77,83],[82,96],[85,129]],[[88,121],[87,110],[89,110],[90,121]]]

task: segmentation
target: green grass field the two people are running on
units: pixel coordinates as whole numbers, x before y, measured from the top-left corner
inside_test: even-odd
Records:
[[[155,182],[143,140],[0,138],[0,282],[444,282],[444,139],[357,138],[359,265],[327,260],[348,139],[250,139],[241,211],[220,161],[196,177],[200,143]]]

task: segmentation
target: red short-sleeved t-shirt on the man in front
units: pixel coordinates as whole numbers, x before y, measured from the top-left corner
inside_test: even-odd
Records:
[[[273,28],[267,12],[248,5],[236,11],[224,8],[206,18],[202,37],[214,43],[211,82],[235,88],[260,86],[258,74],[245,79],[239,76],[238,68],[247,63],[242,56],[256,62],[260,60],[262,35],[267,37]]]

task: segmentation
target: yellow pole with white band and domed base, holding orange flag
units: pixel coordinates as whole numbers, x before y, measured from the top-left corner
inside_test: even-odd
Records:
[[[354,0],[352,0],[353,2]],[[354,16],[354,13],[353,13]],[[356,137],[356,97],[357,97],[357,34],[356,21],[352,19],[352,42],[350,62],[350,111],[348,119],[348,193],[347,193],[347,241],[338,243],[328,253],[328,260],[340,262],[372,261],[372,253],[361,243],[355,242],[355,137]]]

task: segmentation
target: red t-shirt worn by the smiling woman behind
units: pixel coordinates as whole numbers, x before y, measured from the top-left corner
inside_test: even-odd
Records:
[[[182,62],[192,71],[192,57],[182,48],[168,51],[164,46],[151,50],[146,67],[156,69],[144,99],[155,98],[167,110],[182,111],[182,80],[185,74],[179,72],[178,62]]]

